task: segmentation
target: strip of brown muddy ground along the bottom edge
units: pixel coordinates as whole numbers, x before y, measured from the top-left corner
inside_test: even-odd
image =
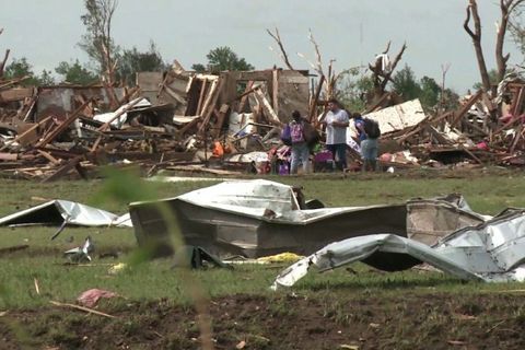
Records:
[[[235,295],[210,304],[215,349],[525,349],[518,293]],[[0,349],[200,349],[190,306],[103,301],[0,317]]]

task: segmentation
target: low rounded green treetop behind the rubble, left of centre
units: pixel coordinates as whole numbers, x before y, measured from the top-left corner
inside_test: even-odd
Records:
[[[254,70],[254,66],[246,62],[244,58],[238,58],[237,54],[232,51],[232,49],[228,46],[222,46],[210,50],[208,55],[206,55],[208,59],[208,65],[196,63],[191,66],[197,72],[220,72],[225,70]]]

